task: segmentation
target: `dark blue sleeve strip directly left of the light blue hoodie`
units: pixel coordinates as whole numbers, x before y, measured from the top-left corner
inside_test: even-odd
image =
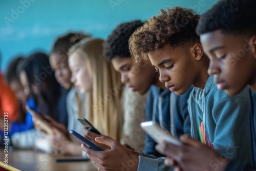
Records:
[[[188,114],[187,99],[192,90],[193,86],[191,86],[185,94],[176,95],[176,110],[174,117],[178,137],[180,137],[182,134],[190,135],[191,122]]]

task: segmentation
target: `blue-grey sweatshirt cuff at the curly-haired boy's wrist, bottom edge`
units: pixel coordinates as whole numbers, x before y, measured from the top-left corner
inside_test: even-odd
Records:
[[[150,158],[145,156],[139,156],[138,171],[173,171],[173,167],[167,167],[164,165],[164,158]]]

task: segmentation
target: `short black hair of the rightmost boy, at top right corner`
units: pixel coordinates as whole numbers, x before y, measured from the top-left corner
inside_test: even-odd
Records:
[[[196,28],[198,35],[221,30],[224,34],[256,33],[256,0],[225,0],[205,12]]]

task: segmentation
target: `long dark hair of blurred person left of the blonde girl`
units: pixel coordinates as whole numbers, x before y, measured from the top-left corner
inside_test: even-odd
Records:
[[[39,108],[47,105],[48,111],[45,114],[53,115],[56,113],[56,108],[54,107],[57,105],[60,96],[60,85],[54,76],[48,56],[42,52],[31,54],[23,63],[22,67],[20,67],[19,71],[25,71],[28,77],[31,96]],[[38,88],[39,95],[34,94],[32,86]]]

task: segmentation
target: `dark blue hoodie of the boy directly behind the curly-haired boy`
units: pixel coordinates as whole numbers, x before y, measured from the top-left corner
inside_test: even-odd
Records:
[[[161,127],[170,130],[176,137],[186,133],[190,134],[187,99],[191,90],[192,87],[184,95],[178,96],[170,92],[169,89],[161,90],[157,86],[151,86],[146,102],[146,119],[158,122]],[[146,134],[143,153],[162,157],[155,149],[156,144],[157,143]]]

